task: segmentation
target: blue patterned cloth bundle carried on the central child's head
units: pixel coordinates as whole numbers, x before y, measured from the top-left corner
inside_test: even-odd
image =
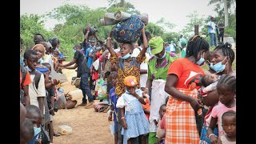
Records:
[[[119,43],[136,42],[142,34],[144,23],[138,15],[132,14],[130,18],[118,22],[112,30],[114,39]]]

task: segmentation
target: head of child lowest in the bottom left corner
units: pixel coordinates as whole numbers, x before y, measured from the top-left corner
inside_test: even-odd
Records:
[[[26,144],[34,138],[33,123],[29,118],[25,118],[25,122],[22,123],[20,128],[20,144]]]

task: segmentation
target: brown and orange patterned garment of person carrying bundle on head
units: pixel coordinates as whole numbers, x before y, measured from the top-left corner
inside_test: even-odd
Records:
[[[138,54],[136,57],[136,62],[140,65],[144,60],[146,59],[146,55],[142,57],[142,54]],[[125,85],[123,83],[124,78],[126,78],[129,75],[133,75],[137,78],[138,86],[140,86],[140,80],[139,80],[139,67],[138,66],[131,66],[130,67],[130,61],[132,58],[127,58],[123,60],[124,62],[124,70],[121,70],[120,67],[118,67],[118,77],[117,77],[117,86],[115,88],[115,94],[118,94],[118,97],[121,97],[122,94],[126,92]],[[118,64],[118,55],[110,55],[110,61],[112,64]]]

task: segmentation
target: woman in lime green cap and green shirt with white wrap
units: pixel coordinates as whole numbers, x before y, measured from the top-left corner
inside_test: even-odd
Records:
[[[178,57],[176,54],[166,51],[161,37],[154,37],[149,42],[151,54],[154,54],[148,62],[148,78],[144,95],[149,94],[152,88],[150,100],[150,134],[149,143],[158,142],[156,131],[158,129],[158,113],[160,106],[166,104],[166,98],[169,96],[164,90],[166,84],[167,71],[170,63]]]

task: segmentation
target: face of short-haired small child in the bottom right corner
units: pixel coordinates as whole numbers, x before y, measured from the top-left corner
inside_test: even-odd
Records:
[[[236,136],[236,117],[234,115],[226,115],[222,118],[222,128],[225,131],[228,137],[235,137]]]

